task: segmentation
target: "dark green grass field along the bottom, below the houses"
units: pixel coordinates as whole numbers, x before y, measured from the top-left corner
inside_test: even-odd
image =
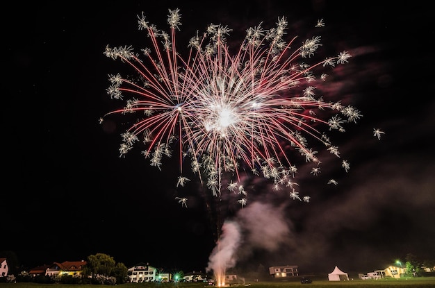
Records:
[[[108,285],[67,285],[67,284],[36,284],[36,283],[0,283],[0,288],[109,288]],[[127,283],[117,285],[117,288],[203,288],[212,287],[207,283]],[[288,287],[317,287],[317,288],[435,288],[435,277],[381,279],[381,280],[350,280],[327,281],[315,280],[311,284],[301,284],[299,281],[288,282],[252,282],[245,285],[231,285],[231,287],[249,288],[288,288]]]

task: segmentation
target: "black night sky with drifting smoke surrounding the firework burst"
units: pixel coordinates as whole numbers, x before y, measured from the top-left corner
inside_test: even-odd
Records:
[[[434,260],[433,13],[423,1],[407,2],[11,3],[1,17],[0,251],[14,251],[28,268],[106,253],[126,266],[205,271],[217,228],[233,221],[243,231],[234,255],[240,269],[295,264],[301,273],[330,273],[338,265],[366,273],[407,253]],[[149,46],[136,15],[169,31],[167,10],[175,8],[181,51],[211,23],[228,25],[229,41],[238,43],[247,28],[271,28],[285,16],[286,40],[302,42],[324,19],[322,49],[352,54],[327,92],[363,115],[333,139],[350,171],[337,174],[335,160],[320,155],[325,168],[315,177],[302,161],[295,181],[309,203],[244,178],[253,193],[242,209],[229,196],[211,197],[196,178],[177,188],[176,159],[159,171],[139,149],[120,158],[122,117],[98,120],[123,105],[106,88],[108,74],[124,65],[104,49]],[[373,128],[384,131],[380,140]],[[327,184],[333,173],[338,185]],[[188,207],[175,198],[181,194]]]

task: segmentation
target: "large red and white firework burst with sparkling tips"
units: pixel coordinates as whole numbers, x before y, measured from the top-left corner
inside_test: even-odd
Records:
[[[343,64],[350,54],[342,51],[307,64],[322,46],[320,37],[302,44],[297,44],[297,37],[286,42],[288,23],[279,17],[274,28],[259,24],[247,29],[236,53],[230,53],[227,44],[231,29],[211,24],[205,33],[191,38],[183,58],[176,45],[180,19],[178,9],[169,10],[170,33],[166,33],[149,24],[142,13],[138,26],[147,32],[151,48],[137,53],[131,46],[106,47],[106,56],[122,60],[137,76],[136,80],[109,76],[107,93],[126,104],[101,121],[113,114],[135,113],[135,122],[122,133],[120,155],[142,143],[143,155],[158,169],[163,157],[177,155],[177,186],[190,180],[183,171],[188,167],[214,196],[220,196],[222,175],[228,174],[231,182],[225,188],[243,197],[242,207],[247,192],[239,183],[245,172],[270,179],[274,189],[290,187],[290,198],[300,200],[292,181],[297,167],[289,153],[296,151],[306,162],[320,164],[309,137],[339,157],[338,147],[320,129],[344,132],[345,122],[361,117],[350,105],[315,95],[316,83],[326,81],[327,74],[315,76],[314,71]],[[319,20],[315,26],[324,25]]]

